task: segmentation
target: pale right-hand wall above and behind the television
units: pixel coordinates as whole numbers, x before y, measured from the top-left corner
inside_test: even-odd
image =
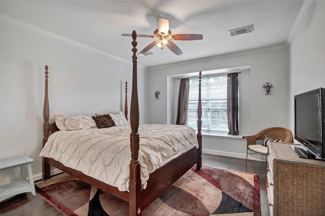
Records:
[[[313,1],[289,48],[289,116],[295,95],[325,88],[325,1]]]

